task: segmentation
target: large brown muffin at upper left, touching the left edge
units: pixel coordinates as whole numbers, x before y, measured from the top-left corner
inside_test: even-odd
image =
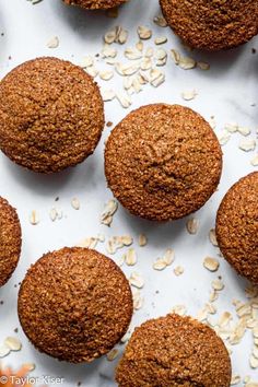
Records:
[[[0,149],[30,169],[58,172],[82,162],[103,127],[97,85],[68,61],[31,60],[0,83]]]

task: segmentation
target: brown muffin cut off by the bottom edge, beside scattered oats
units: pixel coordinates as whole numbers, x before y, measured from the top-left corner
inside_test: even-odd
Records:
[[[231,360],[211,328],[173,314],[134,330],[116,380],[119,387],[228,387]]]

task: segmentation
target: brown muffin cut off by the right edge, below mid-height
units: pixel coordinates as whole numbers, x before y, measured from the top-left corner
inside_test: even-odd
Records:
[[[238,274],[258,284],[258,172],[227,191],[218,210],[215,232],[225,259]]]

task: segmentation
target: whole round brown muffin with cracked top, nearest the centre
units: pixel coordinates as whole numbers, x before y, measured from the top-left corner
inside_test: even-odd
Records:
[[[109,188],[132,214],[149,220],[198,210],[216,189],[221,169],[222,152],[210,125],[179,105],[140,107],[106,143]]]

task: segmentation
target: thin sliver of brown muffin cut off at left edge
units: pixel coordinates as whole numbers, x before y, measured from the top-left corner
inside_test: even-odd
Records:
[[[0,197],[0,286],[15,270],[22,246],[21,224],[16,210]]]

